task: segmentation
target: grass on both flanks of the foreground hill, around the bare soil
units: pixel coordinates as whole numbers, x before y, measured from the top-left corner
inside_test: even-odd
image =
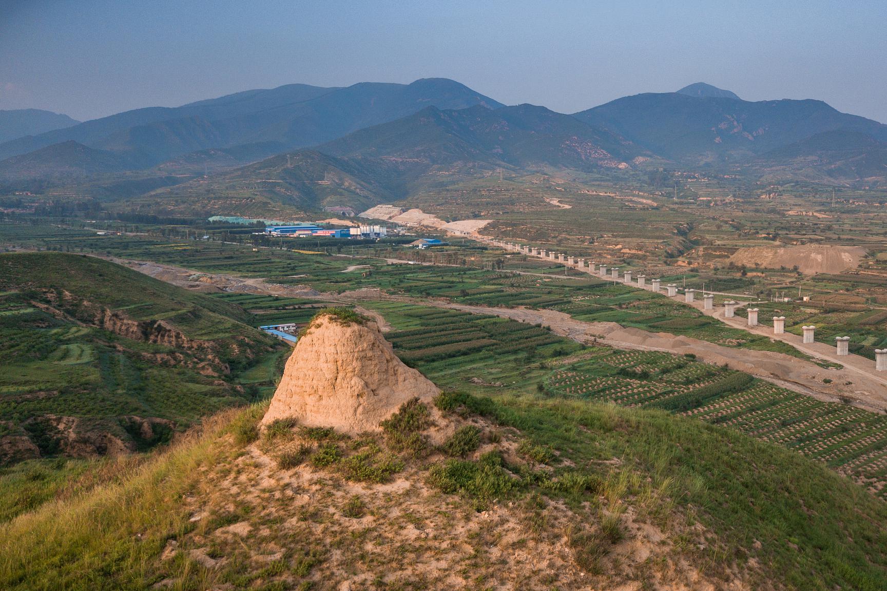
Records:
[[[656,507],[687,524],[700,521],[714,534],[706,548],[672,542],[703,572],[717,576],[751,562],[760,565],[762,587],[887,588],[887,508],[799,455],[658,411],[519,394],[493,403],[475,400],[470,404],[483,414],[576,464],[561,464],[555,474],[581,471],[622,483],[608,501],[593,494],[543,494],[576,506]],[[203,434],[131,470],[122,482],[47,503],[2,526],[0,585],[141,589],[160,579],[172,579],[177,588],[224,582],[224,574],[190,560],[162,564],[159,555],[167,540],[184,541],[198,527],[188,521],[184,496],[209,494],[201,482],[205,470],[239,455],[227,433],[243,432],[240,425],[262,412],[261,406],[226,411]],[[603,463],[614,457],[619,462],[612,467]],[[249,516],[259,509],[246,497],[238,503],[229,510]],[[313,578],[329,582],[322,564],[331,548],[322,539],[302,542],[321,564]]]

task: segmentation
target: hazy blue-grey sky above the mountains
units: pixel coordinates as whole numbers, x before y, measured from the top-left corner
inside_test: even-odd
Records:
[[[885,25],[883,0],[0,0],[0,109],[440,76],[563,113],[709,82],[887,122]]]

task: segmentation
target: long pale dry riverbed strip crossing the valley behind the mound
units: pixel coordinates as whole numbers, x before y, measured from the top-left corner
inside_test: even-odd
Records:
[[[844,369],[825,369],[812,362],[772,351],[752,351],[715,345],[698,338],[673,335],[668,332],[648,332],[635,328],[625,328],[617,323],[585,323],[554,310],[531,310],[527,308],[483,307],[455,304],[440,299],[414,299],[391,296],[378,289],[364,289],[342,294],[322,293],[303,286],[269,284],[261,278],[244,279],[224,274],[204,274],[191,269],[161,265],[152,262],[115,262],[134,268],[146,275],[154,276],[170,284],[194,289],[211,284],[218,289],[231,292],[269,293],[290,297],[318,298],[335,303],[357,304],[361,300],[391,300],[415,303],[422,306],[446,307],[463,310],[472,314],[498,315],[524,323],[542,323],[550,326],[555,334],[572,338],[581,343],[600,342],[621,349],[640,351],[664,351],[673,354],[695,354],[704,362],[727,365],[732,369],[748,372],[773,384],[788,387],[798,393],[812,395],[819,400],[850,400],[855,406],[877,412],[887,410],[887,387],[884,378],[873,376],[841,357],[838,362]],[[381,315],[361,308],[361,312],[381,320],[383,330],[390,328]],[[717,316],[716,316],[717,317]],[[744,319],[738,319],[737,322]],[[739,328],[737,326],[737,328]],[[761,329],[764,330],[764,329]],[[779,335],[777,335],[779,336]],[[785,335],[789,338],[793,335]],[[790,343],[794,344],[794,343]],[[822,345],[821,343],[819,345]],[[809,346],[808,346],[809,347]],[[818,347],[817,347],[818,349]],[[820,355],[812,349],[810,354]],[[869,360],[865,360],[869,361]],[[874,363],[871,363],[874,371]],[[830,380],[825,383],[823,380]]]

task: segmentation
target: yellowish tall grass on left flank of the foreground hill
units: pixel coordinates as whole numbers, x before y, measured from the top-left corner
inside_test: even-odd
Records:
[[[149,564],[166,540],[190,524],[181,502],[200,468],[224,453],[217,439],[232,424],[255,421],[263,405],[225,410],[142,466],[120,484],[98,486],[70,501],[45,503],[0,526],[0,588],[144,589]]]

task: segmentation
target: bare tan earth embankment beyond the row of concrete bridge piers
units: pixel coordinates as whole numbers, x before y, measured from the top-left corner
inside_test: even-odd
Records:
[[[866,249],[860,246],[782,246],[770,248],[755,246],[740,248],[730,257],[730,262],[746,267],[759,265],[763,268],[794,268],[805,275],[816,273],[841,273],[855,268],[860,259],[866,256]]]

